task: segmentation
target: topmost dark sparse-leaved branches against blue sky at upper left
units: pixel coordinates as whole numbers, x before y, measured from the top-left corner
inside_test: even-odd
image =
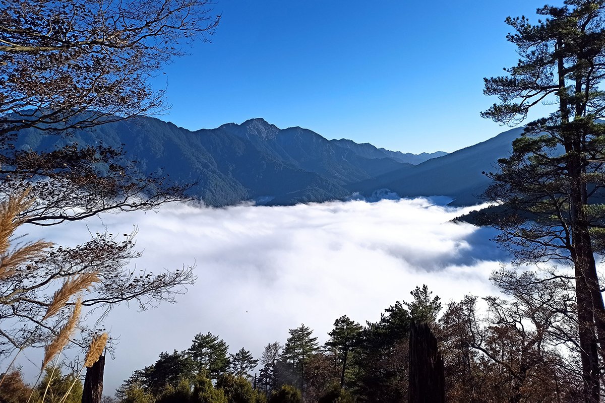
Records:
[[[7,0],[0,133],[65,131],[161,110],[149,79],[220,16],[210,0]]]

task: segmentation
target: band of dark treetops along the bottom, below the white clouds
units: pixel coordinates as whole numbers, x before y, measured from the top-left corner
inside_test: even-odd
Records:
[[[404,402],[412,323],[429,323],[436,335],[448,402],[578,402],[573,283],[536,280],[531,271],[495,272],[492,282],[505,296],[468,295],[445,307],[427,286],[417,287],[410,302],[396,301],[376,323],[361,325],[344,315],[324,346],[301,324],[257,358],[245,347],[229,354],[218,335],[200,333],[187,350],[171,352],[167,345],[103,402]],[[77,375],[63,372],[51,388],[58,397],[45,401],[58,403]],[[25,403],[30,391],[15,372],[0,388],[0,401]],[[79,402],[81,392],[79,384],[67,401]]]

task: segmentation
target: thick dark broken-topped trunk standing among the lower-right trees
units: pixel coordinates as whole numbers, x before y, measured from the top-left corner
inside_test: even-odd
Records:
[[[413,323],[411,326],[409,373],[409,403],[445,402],[443,358],[426,323]]]

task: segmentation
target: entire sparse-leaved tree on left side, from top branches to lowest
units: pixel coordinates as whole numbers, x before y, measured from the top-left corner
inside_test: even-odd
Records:
[[[139,256],[134,234],[119,239],[97,233],[70,248],[18,245],[13,234],[23,224],[56,225],[186,199],[186,185],[143,174],[122,149],[80,146],[71,137],[167,108],[165,90],[153,89],[150,80],[183,56],[192,40],[206,41],[214,33],[220,16],[211,5],[210,0],[0,3],[0,353],[52,340],[69,316],[72,295],[82,295],[83,306],[99,308],[103,316],[120,302],[146,309],[172,301],[194,281],[187,266],[154,268],[155,274],[130,269],[128,262]],[[61,137],[67,145],[24,147],[19,140],[25,132]],[[67,299],[57,297],[57,290],[78,279],[88,279],[87,286],[76,287]]]

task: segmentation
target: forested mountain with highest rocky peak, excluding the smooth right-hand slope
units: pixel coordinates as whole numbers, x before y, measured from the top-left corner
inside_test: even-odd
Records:
[[[281,130],[263,119],[191,132],[156,118],[137,117],[76,131],[69,138],[25,130],[16,146],[50,151],[71,143],[123,145],[142,172],[195,182],[192,195],[215,206],[250,199],[268,204],[340,199],[350,194],[345,185],[412,167],[383,154],[361,156],[315,132],[300,127]]]

